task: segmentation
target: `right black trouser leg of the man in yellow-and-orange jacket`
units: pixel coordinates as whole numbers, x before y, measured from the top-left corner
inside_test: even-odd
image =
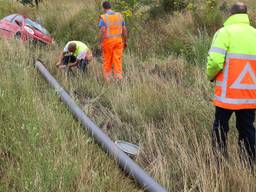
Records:
[[[255,162],[255,120],[254,109],[238,110],[236,113],[236,128],[239,133],[238,144],[243,153],[245,148],[250,163]]]

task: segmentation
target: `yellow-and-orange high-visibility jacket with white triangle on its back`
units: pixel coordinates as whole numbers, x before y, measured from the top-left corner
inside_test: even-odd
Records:
[[[216,80],[216,106],[256,109],[256,29],[247,14],[231,16],[214,35],[207,76]]]

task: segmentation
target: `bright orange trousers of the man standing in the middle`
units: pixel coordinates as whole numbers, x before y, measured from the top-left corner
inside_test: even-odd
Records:
[[[115,79],[123,78],[123,49],[122,38],[105,39],[103,41],[103,75],[106,80],[111,78],[112,70]]]

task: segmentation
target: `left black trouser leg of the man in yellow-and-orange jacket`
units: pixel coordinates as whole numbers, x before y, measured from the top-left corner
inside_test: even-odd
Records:
[[[220,152],[224,157],[228,156],[227,134],[229,130],[229,119],[233,111],[216,107],[215,120],[212,129],[213,152],[218,156]]]

